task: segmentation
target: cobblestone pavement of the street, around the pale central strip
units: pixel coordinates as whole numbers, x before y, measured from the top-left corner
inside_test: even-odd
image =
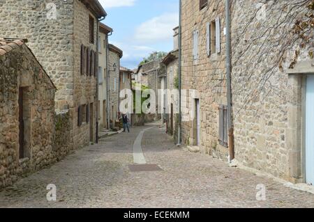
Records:
[[[177,148],[158,126],[144,132],[147,164],[163,171],[130,172],[141,130],[105,138],[0,191],[0,207],[314,207],[314,195],[257,177],[207,154]],[[46,199],[47,184],[57,201]],[[266,201],[257,201],[257,184]]]

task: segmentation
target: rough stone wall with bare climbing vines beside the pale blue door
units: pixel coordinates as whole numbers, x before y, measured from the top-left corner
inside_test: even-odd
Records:
[[[311,11],[308,3],[298,4],[301,1],[239,0],[232,4],[236,159],[292,182],[302,178],[302,84],[299,77],[288,77],[287,70],[294,63],[313,60],[309,48],[313,35],[304,44],[294,29]]]

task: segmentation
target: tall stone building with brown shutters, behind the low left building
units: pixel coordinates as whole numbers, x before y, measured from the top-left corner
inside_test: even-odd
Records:
[[[27,45],[57,87],[55,108],[68,110],[74,148],[96,139],[97,0],[0,1],[1,35]]]

